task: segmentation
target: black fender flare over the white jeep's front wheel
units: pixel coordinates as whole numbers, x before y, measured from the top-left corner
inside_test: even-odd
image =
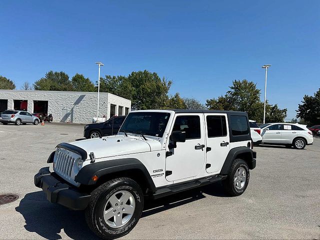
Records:
[[[146,169],[146,167],[136,158],[121,158],[113,160],[105,160],[90,163],[83,166],[78,174],[75,176],[75,181],[85,185],[92,185],[96,182],[92,180],[92,176],[96,175],[98,178],[107,174],[116,173],[124,170],[139,170],[147,181],[148,187],[155,191],[154,182]]]

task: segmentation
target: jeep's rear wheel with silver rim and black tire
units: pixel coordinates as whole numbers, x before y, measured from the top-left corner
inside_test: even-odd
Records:
[[[249,167],[243,159],[235,159],[227,178],[222,181],[224,190],[231,196],[241,195],[249,183]]]

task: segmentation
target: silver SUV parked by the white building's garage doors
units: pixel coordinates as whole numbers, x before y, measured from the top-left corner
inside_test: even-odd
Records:
[[[27,111],[5,110],[0,116],[0,122],[4,125],[8,123],[15,123],[15,125],[33,123],[34,125],[37,125],[39,121],[37,116],[33,116]]]

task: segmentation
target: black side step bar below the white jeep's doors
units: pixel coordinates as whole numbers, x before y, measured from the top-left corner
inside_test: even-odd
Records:
[[[183,183],[176,183],[169,186],[159,187],[156,192],[153,193],[153,199],[157,199],[163,196],[168,196],[180,191],[192,189],[199,186],[204,186],[212,182],[220,181],[226,178],[226,175],[214,175],[211,177],[199,178]]]

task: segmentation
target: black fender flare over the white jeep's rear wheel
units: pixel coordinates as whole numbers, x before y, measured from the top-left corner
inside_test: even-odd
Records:
[[[224,164],[221,168],[220,174],[228,174],[233,163],[233,160],[237,158],[239,154],[246,155],[246,158],[243,159],[248,163],[249,169],[255,167],[255,159],[253,159],[253,151],[246,146],[239,146],[232,148],[227,154]]]

